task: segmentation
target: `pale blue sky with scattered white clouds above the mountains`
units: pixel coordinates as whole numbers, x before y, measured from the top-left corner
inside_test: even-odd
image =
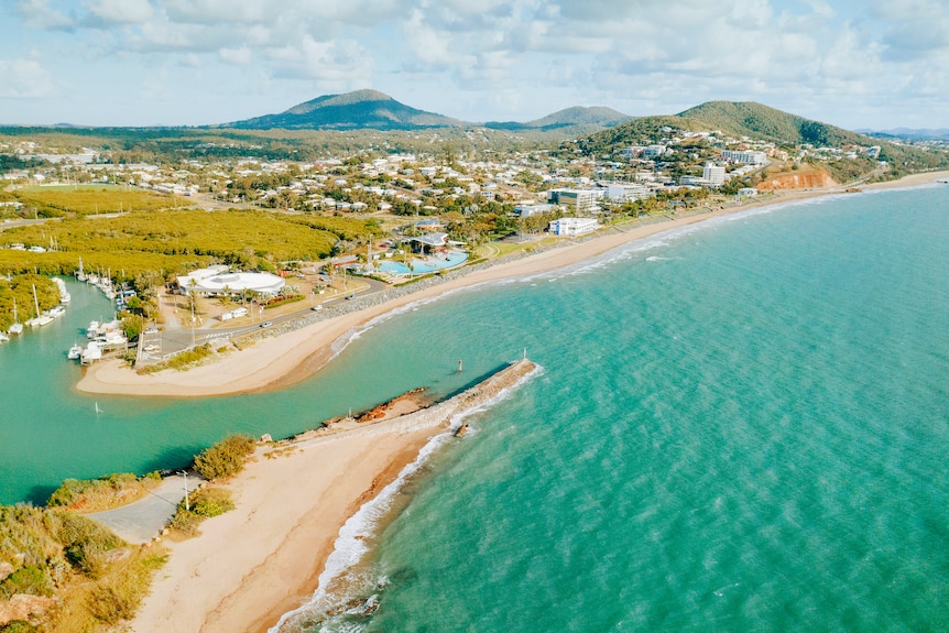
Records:
[[[949,128],[949,1],[0,0],[0,124],[217,124],[361,88],[475,122],[729,100]]]

